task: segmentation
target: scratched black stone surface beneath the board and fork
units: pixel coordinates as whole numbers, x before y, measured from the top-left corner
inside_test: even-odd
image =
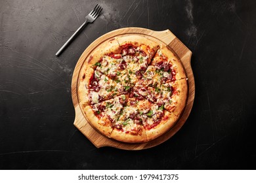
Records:
[[[104,9],[56,51],[99,3]],[[255,169],[256,1],[0,1],[1,169]],[[193,52],[182,129],[148,150],[95,148],[73,125],[75,64],[121,27],[170,29]]]

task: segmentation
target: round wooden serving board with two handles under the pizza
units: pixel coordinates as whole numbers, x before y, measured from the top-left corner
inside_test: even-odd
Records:
[[[172,50],[177,55],[177,58],[181,60],[184,69],[186,70],[186,76],[188,77],[188,99],[181,118],[179,118],[179,121],[175,124],[173,128],[167,131],[167,133],[161,135],[157,139],[154,139],[150,142],[135,144],[124,143],[101,135],[100,133],[98,133],[98,131],[91,127],[91,125],[85,119],[81,107],[79,106],[79,99],[77,97],[79,72],[87,56],[89,56],[89,54],[102,42],[111,40],[114,37],[122,37],[127,35],[140,35],[143,37],[147,37],[152,41],[159,42],[159,44],[166,45],[170,50]],[[190,65],[191,56],[192,52],[188,50],[188,48],[184,46],[184,44],[181,41],[179,41],[179,39],[177,39],[177,37],[175,37],[175,35],[173,35],[173,33],[171,33],[171,31],[169,30],[152,31],[150,29],[144,29],[139,27],[127,27],[123,29],[117,29],[115,31],[111,31],[109,33],[106,33],[105,35],[102,35],[86,48],[86,50],[83,52],[83,54],[77,61],[77,64],[74,69],[74,74],[72,77],[72,100],[75,107],[75,127],[77,127],[77,129],[79,129],[79,131],[81,131],[83,135],[87,137],[87,139],[93,142],[93,144],[95,144],[97,148],[100,148],[102,146],[112,146],[115,148],[125,150],[142,150],[146,148],[151,148],[153,146],[157,146],[158,144],[167,141],[169,138],[175,135],[175,133],[177,133],[179,129],[181,129],[182,125],[184,125],[186,119],[190,114],[194,102],[195,84],[194,75],[192,73],[192,68]]]

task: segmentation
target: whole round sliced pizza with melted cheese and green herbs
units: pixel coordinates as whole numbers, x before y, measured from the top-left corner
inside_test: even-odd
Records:
[[[181,61],[162,44],[139,35],[116,37],[85,59],[79,105],[98,132],[121,142],[148,142],[179,120],[188,97]]]

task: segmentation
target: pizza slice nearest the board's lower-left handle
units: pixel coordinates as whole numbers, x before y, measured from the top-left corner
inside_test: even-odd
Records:
[[[95,105],[87,105],[84,108],[85,116],[98,131],[110,137],[113,125],[116,123],[117,118],[119,118],[125,103],[125,95],[119,95]]]

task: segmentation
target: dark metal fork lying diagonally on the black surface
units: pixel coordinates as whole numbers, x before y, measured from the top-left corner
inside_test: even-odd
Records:
[[[68,44],[70,44],[70,42],[72,42],[75,39],[75,37],[80,33],[80,31],[85,27],[85,25],[87,25],[88,23],[93,23],[95,21],[95,19],[98,17],[102,9],[103,8],[97,4],[96,7],[87,16],[85,16],[85,22],[75,31],[75,33],[70,37],[70,39],[68,39],[68,41],[66,41],[65,44],[63,44],[63,46],[60,48],[60,50],[58,50],[58,52],[56,52],[55,55],[60,56],[62,51],[68,46]]]

